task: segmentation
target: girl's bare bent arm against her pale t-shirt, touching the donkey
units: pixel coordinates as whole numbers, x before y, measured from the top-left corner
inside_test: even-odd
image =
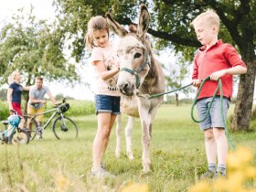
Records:
[[[119,68],[113,68],[111,70],[107,70],[103,61],[101,60],[96,60],[94,61],[94,67],[97,73],[99,73],[100,78],[102,80],[108,80],[112,78],[115,74],[119,72]]]

